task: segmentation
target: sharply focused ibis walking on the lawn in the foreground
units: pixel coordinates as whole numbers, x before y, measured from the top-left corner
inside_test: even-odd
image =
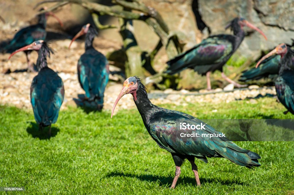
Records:
[[[220,132],[201,120],[183,112],[153,105],[148,99],[145,86],[141,83],[140,78],[136,76],[129,77],[124,81],[123,89],[113,105],[111,117],[118,101],[128,93],[133,95],[133,100],[148,133],[160,148],[169,151],[173,157],[176,173],[171,188],[176,186],[178,177],[181,174],[180,167],[185,159],[188,159],[191,163],[197,186],[201,184],[198,168],[194,162],[195,158],[207,163],[207,157],[222,157],[248,168],[260,166],[258,163],[260,156],[257,153],[237,146],[225,138],[223,134],[220,136]],[[189,124],[191,128],[181,128],[183,123]],[[192,128],[192,125],[196,126],[196,128]],[[191,137],[191,134],[194,136]],[[208,134],[218,134],[219,136],[207,137],[206,135]]]

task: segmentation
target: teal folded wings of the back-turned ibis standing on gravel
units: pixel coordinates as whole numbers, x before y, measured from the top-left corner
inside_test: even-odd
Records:
[[[96,50],[83,54],[78,62],[78,75],[88,98],[103,97],[108,83],[108,61]]]

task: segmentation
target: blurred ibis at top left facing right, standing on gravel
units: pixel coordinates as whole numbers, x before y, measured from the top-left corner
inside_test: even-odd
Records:
[[[43,11],[44,9],[46,8],[41,8],[39,11]],[[57,16],[55,16],[53,12],[41,13],[38,15],[38,23],[19,30],[14,35],[10,43],[4,47],[3,51],[11,53],[19,48],[31,44],[34,41],[45,40],[47,34],[45,28],[47,24],[47,18],[49,16],[53,16],[54,18],[56,18],[60,25],[63,26],[61,20]],[[33,63],[31,63],[30,61],[31,50],[26,50],[24,52],[26,54],[26,61],[28,63],[28,71],[35,71]]]

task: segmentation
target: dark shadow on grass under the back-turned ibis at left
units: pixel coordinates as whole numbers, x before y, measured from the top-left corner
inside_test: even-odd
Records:
[[[33,138],[39,138],[40,140],[43,139],[50,139],[51,137],[55,137],[57,133],[60,131],[56,127],[51,126],[51,135],[49,136],[49,127],[44,127],[43,130],[39,130],[39,125],[30,122],[31,125],[26,128],[26,132],[32,135]]]

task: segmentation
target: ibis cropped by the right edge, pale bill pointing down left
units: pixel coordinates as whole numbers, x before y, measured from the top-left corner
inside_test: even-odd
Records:
[[[287,109],[284,114],[287,114],[288,112],[294,114],[294,51],[290,46],[285,43],[278,45],[275,49],[260,59],[256,64],[256,68],[259,67],[263,60],[275,54],[281,56],[278,65],[279,76],[275,80],[277,96]]]

